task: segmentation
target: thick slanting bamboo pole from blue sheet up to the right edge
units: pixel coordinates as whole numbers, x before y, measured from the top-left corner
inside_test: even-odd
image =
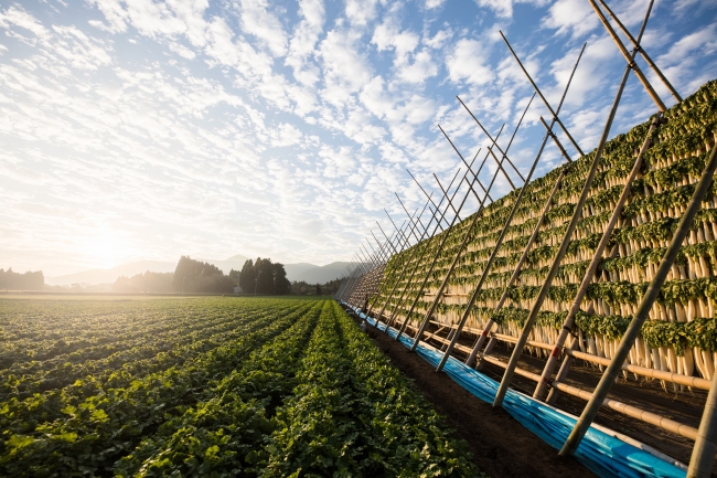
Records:
[[[593,399],[590,400],[586,408],[582,411],[578,423],[575,425],[575,428],[572,428],[572,432],[570,433],[570,436],[568,437],[565,445],[563,445],[560,455],[572,455],[572,453],[575,453],[577,449],[580,440],[585,436],[585,433],[595,419],[595,416],[598,414],[598,410],[600,408],[602,401],[610,391],[612,383],[614,383],[622,363],[625,361],[628,354],[630,353],[632,343],[640,333],[642,325],[648,319],[650,309],[652,308],[652,305],[660,294],[660,288],[664,284],[665,278],[672,268],[672,264],[674,263],[675,257],[679,252],[679,247],[687,236],[689,227],[692,226],[692,223],[695,219],[695,214],[697,214],[697,211],[699,210],[699,204],[705,198],[705,194],[711,184],[715,169],[717,169],[717,156],[715,155],[715,151],[717,151],[717,147],[713,146],[711,153],[709,155],[709,159],[705,166],[702,178],[699,178],[699,182],[697,183],[689,203],[687,204],[685,213],[679,220],[677,230],[673,234],[670,246],[667,247],[667,251],[665,252],[665,255],[660,263],[657,273],[655,274],[652,284],[650,284],[648,291],[643,296],[642,301],[640,302],[640,306],[638,307],[638,310],[634,315],[634,318],[628,327],[628,330],[622,337],[620,346],[612,357],[612,362],[610,365],[608,365],[604,374],[602,375],[602,379],[600,379],[600,383],[598,383],[598,386],[595,390]]]

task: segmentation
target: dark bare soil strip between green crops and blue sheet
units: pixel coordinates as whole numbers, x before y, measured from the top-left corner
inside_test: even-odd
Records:
[[[447,418],[459,438],[468,442],[474,463],[492,478],[595,477],[575,458],[557,450],[523,427],[504,410],[470,394],[445,373],[403,344],[370,327],[368,334],[404,376]]]

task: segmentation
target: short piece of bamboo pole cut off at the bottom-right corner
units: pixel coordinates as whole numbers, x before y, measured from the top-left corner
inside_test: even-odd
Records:
[[[715,452],[717,450],[717,374],[711,380],[711,386],[707,394],[705,411],[699,422],[697,439],[692,449],[687,478],[709,478],[715,465]]]

